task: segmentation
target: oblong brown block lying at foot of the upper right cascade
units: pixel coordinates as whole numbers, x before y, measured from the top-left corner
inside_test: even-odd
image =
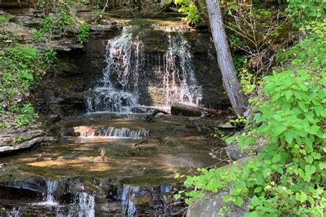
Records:
[[[180,102],[171,104],[171,115],[200,116],[202,113],[216,113],[216,111]]]

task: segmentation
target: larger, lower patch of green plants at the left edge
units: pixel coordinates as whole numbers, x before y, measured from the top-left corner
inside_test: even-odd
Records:
[[[22,45],[12,45],[0,53],[0,127],[22,126],[36,117],[30,104],[21,102],[28,89],[41,80],[50,59],[47,51]]]

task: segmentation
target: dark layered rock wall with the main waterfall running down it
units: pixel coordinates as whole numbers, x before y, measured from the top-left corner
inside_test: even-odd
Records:
[[[116,19],[109,25],[91,25],[90,30],[83,49],[59,52],[54,71],[36,89],[40,111],[61,115],[99,111],[95,101],[105,100],[96,98],[113,91],[109,82],[114,90],[133,94],[140,106],[172,102],[228,106],[215,49],[206,32],[147,19]],[[110,54],[116,50],[118,54]],[[91,91],[95,89],[102,92]]]

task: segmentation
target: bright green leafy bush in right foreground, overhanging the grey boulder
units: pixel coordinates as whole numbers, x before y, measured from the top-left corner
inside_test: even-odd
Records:
[[[257,157],[228,168],[199,169],[199,175],[184,181],[186,187],[195,187],[196,192],[230,188],[230,195],[223,199],[239,207],[250,197],[246,216],[323,216],[326,70],[325,58],[315,53],[314,59],[310,53],[325,46],[320,39],[325,36],[319,31],[316,27],[305,40],[284,52],[291,58],[283,60],[286,70],[263,78],[266,99],[254,105],[257,114],[252,123],[259,127],[227,139],[237,139],[241,147],[254,146],[261,139],[268,141]],[[185,195],[188,204],[202,196]]]

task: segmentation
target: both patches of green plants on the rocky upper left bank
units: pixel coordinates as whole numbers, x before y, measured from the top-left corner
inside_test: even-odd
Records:
[[[34,1],[34,7],[43,10],[45,18],[33,34],[35,41],[44,42],[41,49],[21,45],[15,38],[5,38],[0,45],[0,128],[29,125],[39,117],[28,98],[30,88],[41,81],[45,71],[54,64],[56,52],[51,48],[54,36],[72,34],[83,44],[89,37],[88,24],[72,14],[74,1]],[[1,22],[7,21],[0,16]]]

